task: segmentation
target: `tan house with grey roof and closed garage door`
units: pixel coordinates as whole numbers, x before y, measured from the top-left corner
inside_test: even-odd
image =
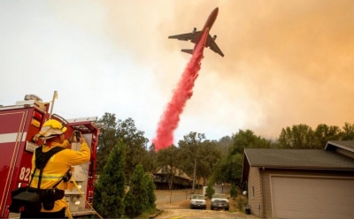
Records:
[[[262,218],[354,218],[354,141],[324,149],[246,148],[242,182]]]

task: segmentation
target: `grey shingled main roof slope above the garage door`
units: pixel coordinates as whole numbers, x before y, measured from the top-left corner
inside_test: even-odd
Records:
[[[244,157],[250,167],[354,170],[354,159],[329,150],[245,148]]]

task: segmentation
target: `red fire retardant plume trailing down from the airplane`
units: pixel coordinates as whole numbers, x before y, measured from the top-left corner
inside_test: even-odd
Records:
[[[193,87],[200,64],[202,61],[203,50],[205,47],[206,38],[208,37],[209,29],[201,36],[200,41],[196,45],[195,51],[189,60],[189,64],[184,70],[181,80],[177,88],[173,92],[172,100],[168,103],[167,108],[160,122],[158,123],[158,130],[155,139],[152,142],[155,144],[155,150],[169,147],[173,144],[173,131],[177,128],[180,122],[180,115],[186,105],[186,102],[193,94]]]

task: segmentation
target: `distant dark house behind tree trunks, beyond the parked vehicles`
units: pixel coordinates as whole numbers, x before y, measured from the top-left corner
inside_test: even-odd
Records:
[[[169,189],[167,177],[170,171],[171,171],[170,166],[164,166],[158,168],[158,170],[153,174],[153,179],[154,179],[154,184],[156,186],[156,189],[160,189],[160,190]],[[172,185],[173,190],[190,187],[191,179],[185,172],[177,168],[173,168],[172,171],[175,173],[173,177],[173,185]]]

